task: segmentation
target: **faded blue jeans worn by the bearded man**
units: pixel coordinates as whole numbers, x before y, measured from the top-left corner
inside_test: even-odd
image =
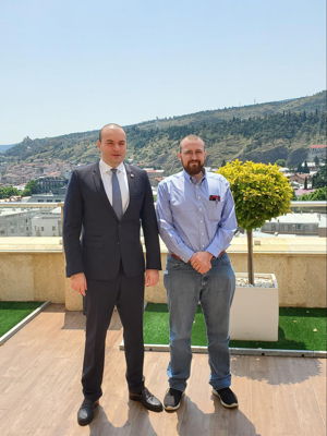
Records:
[[[171,256],[164,276],[168,295],[170,326],[169,385],[184,391],[191,371],[192,325],[201,302],[208,339],[209,383],[215,389],[230,386],[229,313],[235,289],[235,275],[223,254],[211,261],[211,269],[202,275],[191,264]]]

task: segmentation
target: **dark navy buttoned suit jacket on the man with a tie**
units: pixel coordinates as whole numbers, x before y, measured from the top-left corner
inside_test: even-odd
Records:
[[[99,164],[73,171],[64,203],[63,245],[66,276],[114,279],[122,264],[128,277],[161,269],[158,227],[146,172],[125,164],[130,203],[121,220],[107,197]],[[140,241],[143,228],[146,263]]]

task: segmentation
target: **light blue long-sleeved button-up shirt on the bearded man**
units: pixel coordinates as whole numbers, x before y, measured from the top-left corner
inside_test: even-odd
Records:
[[[162,241],[184,262],[196,252],[217,257],[238,228],[229,183],[214,172],[206,171],[199,182],[185,170],[162,180],[156,209]]]

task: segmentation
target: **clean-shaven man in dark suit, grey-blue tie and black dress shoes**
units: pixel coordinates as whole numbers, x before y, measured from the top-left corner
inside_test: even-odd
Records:
[[[144,284],[156,284],[161,269],[152,187],[144,170],[123,162],[126,136],[120,125],[105,125],[97,146],[100,161],[72,173],[63,220],[66,275],[71,287],[86,299],[80,425],[92,422],[102,395],[105,341],[114,306],[123,326],[130,399],[162,410],[143,377]]]

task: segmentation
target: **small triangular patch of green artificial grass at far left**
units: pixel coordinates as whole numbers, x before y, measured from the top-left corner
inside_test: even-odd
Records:
[[[41,304],[39,301],[0,301],[0,337]]]

